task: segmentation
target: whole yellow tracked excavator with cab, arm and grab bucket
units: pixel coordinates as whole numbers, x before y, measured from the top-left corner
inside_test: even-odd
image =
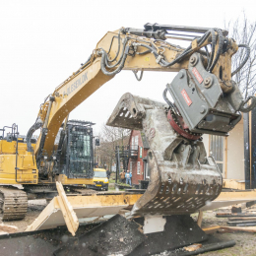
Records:
[[[189,46],[167,39],[187,40]],[[244,48],[244,58],[231,71],[231,57],[238,48]],[[232,80],[249,54],[247,45],[215,28],[146,24],[144,29],[106,32],[89,59],[40,105],[26,140],[18,138],[14,125],[0,141],[0,208],[5,220],[25,217],[28,192],[51,190],[56,181],[63,186],[94,184],[93,160],[84,164],[86,154],[79,148],[73,159],[67,154],[75,143],[91,147],[92,130],[88,124],[68,129],[68,115],[122,70],[132,71],[138,81],[145,71],[177,72],[162,87],[164,103],[125,94],[107,121],[115,127],[144,130],[150,144],[150,183],[132,215],[189,215],[215,200],[222,190],[222,174],[214,158],[207,157],[202,135],[228,136],[241,112],[255,106],[255,97],[244,99]],[[37,129],[40,135],[32,142]],[[72,133],[80,133],[80,141],[64,144]]]

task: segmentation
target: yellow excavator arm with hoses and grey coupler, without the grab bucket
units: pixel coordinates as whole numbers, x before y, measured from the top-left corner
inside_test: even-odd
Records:
[[[193,34],[177,35],[173,32],[193,32]],[[237,51],[238,45],[233,39],[225,37],[226,33],[218,29],[157,24],[146,24],[145,30],[122,28],[116,32],[107,32],[97,43],[89,60],[57,87],[48,97],[49,100],[41,105],[37,124],[32,126],[32,131],[35,126],[44,128],[37,141],[35,155],[43,150],[51,156],[54,138],[66,116],[121,70],[132,70],[136,77],[138,71],[180,72],[177,77],[182,76],[182,82],[177,81],[180,80],[179,78],[175,78],[170,85],[167,85],[167,90],[190,130],[202,132],[197,127],[199,121],[205,118],[206,113],[210,111],[213,113],[220,108],[219,112],[227,113],[227,118],[223,122],[228,125],[233,122],[220,133],[227,134],[228,129],[230,130],[230,127],[233,127],[239,119],[237,111],[242,110],[244,100],[237,85],[231,81],[231,56]],[[191,40],[191,44],[184,49],[167,42],[166,38]],[[207,45],[211,45],[211,52],[203,50]],[[188,100],[187,104],[192,100],[185,89],[185,87],[191,87],[192,83],[195,84],[193,87],[196,91],[196,93],[193,92],[193,96],[197,96],[195,100],[202,101],[201,105],[197,104],[197,107],[195,103],[184,106],[180,102],[182,100],[180,96]],[[180,87],[184,87],[181,90],[182,94],[179,92]],[[214,100],[212,96],[215,97]],[[224,99],[220,106],[217,106],[221,97]],[[193,114],[189,115],[188,110]],[[204,118],[196,117],[200,111],[203,112]],[[221,126],[223,125],[221,119],[224,119],[222,117],[216,118],[212,114],[208,119],[214,119]],[[196,122],[192,122],[191,120],[195,118]],[[204,128],[204,125],[208,128],[204,132],[213,131],[209,121],[204,120],[204,122],[208,122],[201,123],[201,128]],[[219,134],[216,127],[214,130]],[[31,135],[32,131],[28,134]]]

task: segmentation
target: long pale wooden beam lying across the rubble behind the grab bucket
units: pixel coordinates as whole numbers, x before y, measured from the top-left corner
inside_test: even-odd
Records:
[[[35,219],[35,221],[28,226],[26,231],[54,228],[58,225],[64,225],[66,223],[63,216],[63,213],[66,213],[66,207],[63,207],[64,203],[62,200],[60,200],[61,195],[62,192],[60,191],[60,198],[53,198],[52,201],[41,212],[41,214]],[[127,194],[125,192],[109,192],[108,194],[97,192],[93,195],[73,195],[67,197],[65,195],[65,198],[67,199],[67,203],[70,203],[72,206],[77,218],[79,220],[83,220],[85,218],[88,219],[103,217],[105,215],[116,215],[120,213],[121,210],[131,210],[133,205],[141,196],[142,194]],[[210,210],[223,207],[223,204],[224,206],[227,206],[233,205],[235,202],[243,203],[254,201],[255,199],[256,190],[222,192],[221,195],[211,203]],[[87,221],[83,220],[83,222]],[[76,225],[73,227],[73,229],[76,229]]]

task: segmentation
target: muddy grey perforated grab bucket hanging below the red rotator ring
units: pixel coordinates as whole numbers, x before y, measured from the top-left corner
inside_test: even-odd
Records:
[[[185,215],[215,200],[222,190],[222,174],[207,158],[200,140],[174,131],[168,106],[149,98],[125,94],[107,125],[144,130],[150,144],[149,186],[133,206],[133,215]]]

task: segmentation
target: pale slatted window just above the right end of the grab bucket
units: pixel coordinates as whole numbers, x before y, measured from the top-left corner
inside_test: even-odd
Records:
[[[224,137],[211,135],[210,137],[210,155],[216,160],[222,173],[224,173]]]

